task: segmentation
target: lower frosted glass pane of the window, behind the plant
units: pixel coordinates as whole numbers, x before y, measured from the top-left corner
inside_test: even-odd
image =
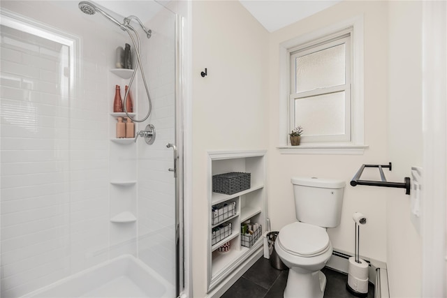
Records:
[[[344,91],[295,100],[295,126],[306,135],[342,135],[345,133]]]

